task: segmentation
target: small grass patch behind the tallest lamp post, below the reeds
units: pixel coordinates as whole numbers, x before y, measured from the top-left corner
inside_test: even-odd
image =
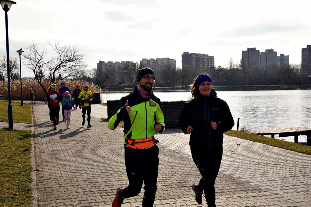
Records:
[[[31,124],[31,105],[12,101],[13,122]],[[9,101],[0,100],[0,122],[9,122],[7,105]]]

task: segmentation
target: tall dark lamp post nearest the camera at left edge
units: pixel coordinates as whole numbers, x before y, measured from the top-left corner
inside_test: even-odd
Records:
[[[7,28],[7,12],[10,10],[12,4],[16,4],[16,2],[9,0],[0,0],[0,4],[2,9],[5,12],[5,31],[6,31],[6,39],[7,39],[7,91],[9,97],[9,104],[7,105],[7,112],[9,118],[9,128],[13,129],[13,110],[11,104],[11,80],[10,80],[10,55],[9,55],[9,33]]]

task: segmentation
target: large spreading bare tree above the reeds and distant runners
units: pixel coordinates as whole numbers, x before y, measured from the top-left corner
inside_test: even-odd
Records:
[[[47,57],[46,46],[51,47],[54,56]],[[32,70],[35,79],[41,88],[46,92],[42,85],[42,78],[46,77],[50,83],[58,83],[64,79],[73,79],[81,75],[85,69],[84,54],[75,46],[61,46],[60,42],[47,43],[43,49],[39,50],[36,43],[26,47],[24,64]]]

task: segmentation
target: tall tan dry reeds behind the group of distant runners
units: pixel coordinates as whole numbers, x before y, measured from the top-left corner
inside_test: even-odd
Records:
[[[90,86],[89,89],[93,93],[102,92],[102,90],[97,85],[95,86],[93,83],[88,83],[86,81],[64,80],[64,82],[66,83],[66,86],[68,86],[71,89],[72,92],[76,88],[76,85],[79,85],[80,89],[82,89],[82,87],[85,84],[88,84]],[[47,79],[43,80],[42,83],[43,83],[44,88],[46,88],[46,90],[50,87],[50,82]],[[31,86],[34,86],[35,90],[37,91],[36,100],[45,101],[46,94],[44,93],[44,90],[41,88],[41,86],[35,79],[22,79],[23,100],[30,100],[29,90]],[[60,88],[60,83],[56,84],[56,88],[57,89]],[[7,81],[4,81],[4,82],[0,81],[0,95],[4,95],[5,100],[8,100]],[[11,99],[21,100],[21,82],[19,79],[11,81]]]

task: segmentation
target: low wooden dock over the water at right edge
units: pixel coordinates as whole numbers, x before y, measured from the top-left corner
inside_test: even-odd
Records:
[[[298,143],[299,135],[307,136],[307,145],[311,145],[311,127],[292,127],[292,128],[274,128],[274,129],[252,129],[252,134],[258,135],[271,135],[274,138],[275,134],[279,137],[291,137],[294,136],[295,143]]]

